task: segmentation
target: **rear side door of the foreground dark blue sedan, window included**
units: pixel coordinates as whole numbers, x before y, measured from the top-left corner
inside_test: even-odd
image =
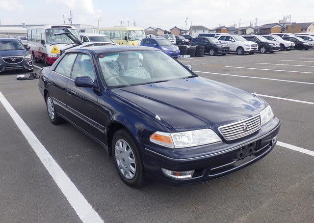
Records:
[[[49,75],[48,90],[52,96],[55,110],[67,116],[66,85],[77,54],[65,55]]]

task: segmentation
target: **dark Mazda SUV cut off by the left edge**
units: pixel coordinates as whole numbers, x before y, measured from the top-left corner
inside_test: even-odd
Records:
[[[33,71],[29,47],[14,38],[0,38],[0,72],[8,70]]]

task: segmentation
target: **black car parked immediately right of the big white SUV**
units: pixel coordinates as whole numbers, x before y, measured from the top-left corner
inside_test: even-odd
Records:
[[[259,51],[262,54],[274,53],[275,51],[280,51],[280,45],[274,41],[269,41],[265,37],[257,35],[242,35],[246,40],[255,42],[259,45]]]

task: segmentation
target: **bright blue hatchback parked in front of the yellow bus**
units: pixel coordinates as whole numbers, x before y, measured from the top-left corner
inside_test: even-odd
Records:
[[[145,38],[142,39],[140,46],[157,48],[175,58],[178,58],[180,56],[179,48],[173,45],[169,40],[165,38],[160,37]]]

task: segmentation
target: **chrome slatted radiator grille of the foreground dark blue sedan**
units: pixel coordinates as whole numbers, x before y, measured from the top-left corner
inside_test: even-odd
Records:
[[[218,130],[227,140],[239,139],[261,128],[260,114],[232,124],[220,126]]]

